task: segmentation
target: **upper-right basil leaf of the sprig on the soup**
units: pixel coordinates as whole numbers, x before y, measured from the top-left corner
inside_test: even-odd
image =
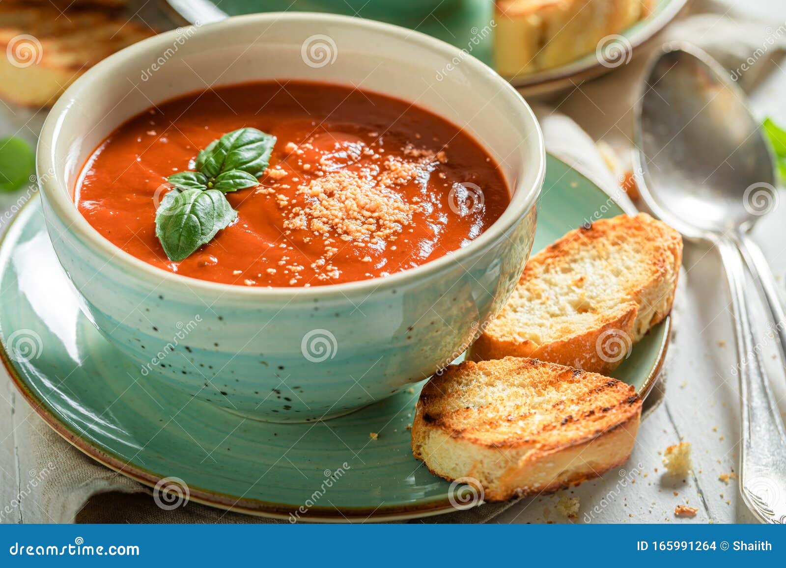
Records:
[[[196,156],[196,168],[208,178],[229,170],[242,170],[259,178],[270,162],[275,143],[275,136],[255,128],[233,130]]]

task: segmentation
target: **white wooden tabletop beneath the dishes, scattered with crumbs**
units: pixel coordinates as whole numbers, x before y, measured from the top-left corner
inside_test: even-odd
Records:
[[[753,108],[758,115],[773,116],[786,124],[786,64],[773,72],[753,93]],[[625,120],[615,115],[613,101],[589,101],[593,85],[583,85],[560,104],[560,112],[571,115],[593,137],[619,146],[626,143]],[[597,105],[597,106],[596,106]],[[601,110],[602,109],[602,110]],[[0,103],[0,136],[17,134],[35,143],[42,115],[31,115]],[[0,213],[25,198],[25,190],[0,195]],[[784,291],[786,274],[786,194],[781,191],[780,207],[762,218],[755,238]],[[5,222],[2,223],[6,225]],[[0,227],[0,231],[4,226]],[[670,368],[663,403],[642,424],[634,453],[623,470],[609,472],[604,478],[561,491],[554,496],[523,500],[500,515],[497,522],[568,522],[556,512],[560,497],[581,498],[581,511],[573,522],[755,522],[747,511],[736,480],[727,485],[719,479],[736,471],[739,459],[738,384],[731,369],[736,355],[729,312],[729,295],[718,255],[709,247],[685,244],[684,266],[687,288],[679,314],[676,339],[670,349],[676,352]],[[752,288],[751,288],[752,289]],[[2,291],[0,291],[2,293]],[[2,296],[0,296],[2,298]],[[763,317],[758,332],[766,331]],[[771,367],[773,387],[781,403],[786,401],[786,376],[773,359],[774,342],[765,345]],[[4,370],[0,371],[0,509],[11,503],[28,479],[17,459],[17,446],[24,440],[14,430],[24,401],[17,395]],[[17,412],[15,412],[17,409]],[[786,404],[781,404],[786,411]],[[663,477],[662,452],[668,445],[691,442],[693,474],[685,482]],[[694,519],[676,519],[674,507],[688,504],[699,509]],[[20,522],[21,513],[4,515],[2,522]]]

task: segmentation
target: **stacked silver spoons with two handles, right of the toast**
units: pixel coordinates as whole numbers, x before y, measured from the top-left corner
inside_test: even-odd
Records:
[[[689,239],[720,251],[732,295],[742,397],[740,492],[762,521],[786,522],[786,431],[751,334],[740,251],[766,298],[786,350],[783,306],[764,255],[747,236],[777,201],[773,160],[744,93],[707,53],[667,44],[635,109],[641,196]],[[762,207],[763,206],[763,207]],[[772,208],[772,207],[769,207]]]

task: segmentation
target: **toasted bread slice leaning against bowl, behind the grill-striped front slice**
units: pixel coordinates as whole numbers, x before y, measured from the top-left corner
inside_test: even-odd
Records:
[[[680,234],[645,213],[571,231],[530,258],[470,358],[537,357],[608,374],[670,312],[681,263]]]

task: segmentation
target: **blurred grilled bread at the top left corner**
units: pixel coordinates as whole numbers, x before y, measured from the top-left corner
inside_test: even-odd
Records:
[[[0,3],[0,97],[50,106],[79,75],[123,47],[153,35],[105,10],[61,13],[53,5]]]

